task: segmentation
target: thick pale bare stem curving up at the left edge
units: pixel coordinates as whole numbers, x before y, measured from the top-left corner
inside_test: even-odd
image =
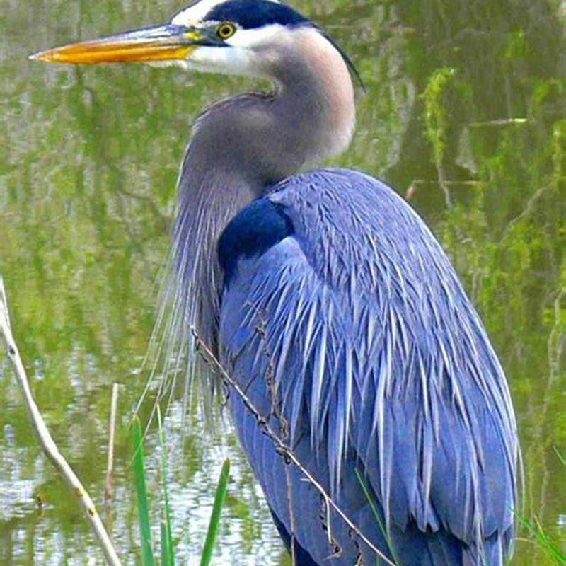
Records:
[[[16,345],[16,341],[14,340],[12,335],[10,315],[8,313],[8,301],[6,300],[4,281],[1,277],[0,333],[3,335],[4,341],[6,342],[8,357],[13,365],[13,369],[16,373],[16,378],[21,385],[25,399],[25,406],[28,409],[28,413],[35,429],[35,433],[37,434],[37,439],[40,441],[45,455],[50,459],[55,468],[59,470],[59,473],[63,476],[64,480],[67,482],[67,485],[69,485],[76,496],[79,497],[79,502],[81,502],[81,505],[85,510],[86,518],[91,523],[96,538],[98,538],[98,542],[100,543],[108,565],[121,566],[122,563],[120,562],[120,559],[118,558],[118,555],[116,554],[116,551],[112,546],[110,537],[106,532],[102,519],[100,519],[100,515],[96,511],[93,500],[91,499],[90,495],[88,495],[88,492],[86,492],[79,478],[76,477],[76,474],[71,469],[71,466],[69,466],[65,458],[59,452],[57,444],[55,444],[54,440],[52,439],[51,434],[47,429],[47,426],[45,425],[45,421],[41,416],[40,410],[39,408],[37,408],[37,403],[35,403],[35,399],[33,398],[33,394],[31,392],[30,384],[28,381],[28,376],[25,373],[25,368],[18,351],[18,346]]]

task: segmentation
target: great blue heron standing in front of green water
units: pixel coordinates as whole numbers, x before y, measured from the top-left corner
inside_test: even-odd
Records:
[[[381,181],[298,173],[343,151],[354,130],[352,64],[335,42],[275,1],[200,0],[167,25],[34,57],[174,62],[275,83],[213,105],[193,128],[178,279],[188,323],[265,420],[287,425],[295,454],[382,556],[335,514],[321,516],[318,492],[231,395],[277,528],[300,566],[503,565],[516,424],[453,267]]]

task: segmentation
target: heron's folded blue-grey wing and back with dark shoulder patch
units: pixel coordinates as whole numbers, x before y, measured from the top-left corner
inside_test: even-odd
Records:
[[[361,173],[297,175],[236,216],[219,257],[222,361],[362,530],[402,565],[502,565],[516,501],[509,392],[412,209]],[[279,529],[321,564],[318,495],[235,397]],[[352,564],[367,549],[332,523],[335,563]]]

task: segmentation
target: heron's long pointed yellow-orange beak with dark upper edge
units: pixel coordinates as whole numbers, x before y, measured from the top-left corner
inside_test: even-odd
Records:
[[[48,63],[129,63],[187,59],[200,45],[218,45],[205,30],[158,25],[30,55]]]

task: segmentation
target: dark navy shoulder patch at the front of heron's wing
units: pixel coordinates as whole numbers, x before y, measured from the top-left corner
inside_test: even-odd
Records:
[[[218,259],[228,287],[241,257],[262,255],[295,231],[283,207],[267,198],[253,201],[229,222],[218,241]]]

